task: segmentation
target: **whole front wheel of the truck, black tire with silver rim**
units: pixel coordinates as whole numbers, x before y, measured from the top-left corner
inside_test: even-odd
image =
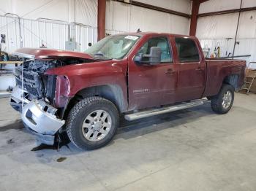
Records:
[[[101,97],[79,101],[67,117],[67,135],[80,149],[98,149],[116,133],[119,114],[116,106]]]

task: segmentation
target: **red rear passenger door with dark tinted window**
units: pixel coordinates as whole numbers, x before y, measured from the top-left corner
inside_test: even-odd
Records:
[[[201,98],[205,87],[205,61],[195,39],[175,37],[178,81],[176,102]]]

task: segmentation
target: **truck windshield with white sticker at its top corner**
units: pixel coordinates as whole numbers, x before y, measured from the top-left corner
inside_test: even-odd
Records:
[[[108,36],[85,52],[99,59],[121,59],[127,55],[139,38],[140,36],[133,35]]]

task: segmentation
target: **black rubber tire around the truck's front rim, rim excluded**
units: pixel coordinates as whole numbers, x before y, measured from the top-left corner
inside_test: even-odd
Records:
[[[97,109],[103,109],[111,117],[112,124],[108,134],[99,141],[89,141],[83,136],[82,125],[86,116]],[[116,106],[105,98],[89,97],[79,101],[70,110],[67,117],[67,136],[80,149],[98,149],[108,144],[116,133],[119,125],[119,113]]]

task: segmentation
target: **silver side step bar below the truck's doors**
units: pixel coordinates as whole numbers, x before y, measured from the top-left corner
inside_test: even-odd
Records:
[[[174,105],[174,106],[167,106],[167,107],[162,107],[162,108],[158,108],[158,109],[148,109],[146,111],[143,112],[137,112],[137,113],[133,113],[133,114],[126,114],[124,115],[124,118],[128,121],[132,121],[132,120],[138,120],[144,117],[151,117],[157,114],[165,114],[168,112],[175,112],[181,109],[187,109],[187,108],[191,108],[194,106],[200,106],[203,105],[204,101],[202,100],[196,100],[196,101],[192,101],[189,103],[185,103],[185,104],[178,104],[178,105]]]

